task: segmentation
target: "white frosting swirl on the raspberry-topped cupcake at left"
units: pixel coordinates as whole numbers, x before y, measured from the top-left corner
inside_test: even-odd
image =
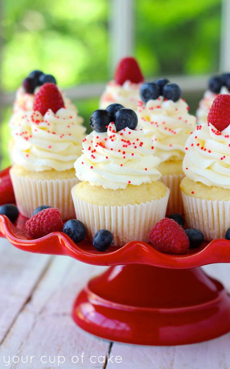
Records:
[[[85,137],[82,122],[69,108],[56,114],[49,109],[44,116],[39,111],[24,113],[14,131],[14,163],[35,172],[73,168]]]

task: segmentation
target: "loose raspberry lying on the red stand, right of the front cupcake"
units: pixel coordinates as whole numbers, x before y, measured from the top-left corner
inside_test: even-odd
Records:
[[[189,249],[188,236],[173,219],[161,219],[151,229],[148,238],[158,251],[166,254],[185,254]]]

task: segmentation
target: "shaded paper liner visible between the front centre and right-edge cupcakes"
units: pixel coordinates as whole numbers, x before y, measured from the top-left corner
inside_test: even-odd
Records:
[[[183,179],[183,174],[166,174],[159,180],[165,184],[170,190],[168,206],[166,214],[184,214],[183,201],[181,196],[180,183]]]

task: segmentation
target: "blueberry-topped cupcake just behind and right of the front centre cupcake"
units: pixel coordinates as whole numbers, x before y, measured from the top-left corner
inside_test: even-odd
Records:
[[[155,155],[161,159],[158,166],[162,182],[170,189],[167,214],[183,214],[179,184],[184,176],[182,161],[185,142],[196,127],[196,118],[181,99],[181,89],[168,79],[144,83],[138,101],[138,123],[145,137],[151,138]]]

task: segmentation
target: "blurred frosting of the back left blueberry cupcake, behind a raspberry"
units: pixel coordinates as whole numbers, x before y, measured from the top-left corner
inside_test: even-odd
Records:
[[[40,87],[41,86],[36,87],[33,94],[25,92],[22,86],[17,89],[16,99],[13,104],[13,114],[11,115],[9,121],[9,127],[12,135],[14,134],[14,131],[17,130],[18,124],[22,123],[22,117],[24,116],[24,114],[33,111],[34,97],[35,94],[38,93]],[[65,107],[72,111],[75,111],[75,113],[78,114],[78,109],[72,103],[72,101],[65,96],[65,93],[62,90],[59,89],[59,92],[62,95]],[[78,118],[82,120],[81,117],[78,116]]]

